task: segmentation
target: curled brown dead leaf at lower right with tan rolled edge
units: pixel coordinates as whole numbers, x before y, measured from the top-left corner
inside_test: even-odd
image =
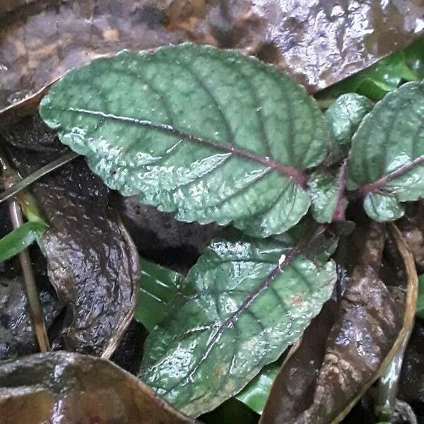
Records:
[[[384,232],[373,223],[338,312],[330,315],[334,324],[328,335],[319,319],[329,314],[329,304],[277,377],[261,424],[339,423],[404,343],[413,325],[418,279],[399,231],[391,229],[408,277],[404,317],[377,273]]]

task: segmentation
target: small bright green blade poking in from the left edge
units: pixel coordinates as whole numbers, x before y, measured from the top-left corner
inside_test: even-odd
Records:
[[[0,262],[14,257],[30,246],[47,230],[48,225],[40,222],[28,222],[16,228],[0,239]]]

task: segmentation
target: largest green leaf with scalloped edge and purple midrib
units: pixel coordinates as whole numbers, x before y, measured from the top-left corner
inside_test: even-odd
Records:
[[[305,215],[306,170],[329,144],[315,100],[276,67],[190,44],[69,71],[40,114],[124,196],[263,237]]]

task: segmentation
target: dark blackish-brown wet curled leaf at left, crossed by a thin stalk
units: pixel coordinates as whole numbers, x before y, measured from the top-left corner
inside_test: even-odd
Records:
[[[63,148],[37,118],[5,133],[11,162],[27,175]],[[49,279],[67,306],[66,349],[108,358],[136,305],[139,257],[109,205],[107,188],[76,160],[32,186],[50,228]]]

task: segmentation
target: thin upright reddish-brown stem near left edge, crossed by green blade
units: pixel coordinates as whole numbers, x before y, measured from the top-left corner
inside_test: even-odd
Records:
[[[6,158],[1,153],[0,151],[0,163],[3,169],[4,185],[6,189],[10,189],[13,187],[13,179],[16,179],[18,175],[12,170]],[[9,201],[8,211],[13,228],[18,228],[20,225],[23,225],[22,211],[18,201],[15,199]],[[31,258],[28,249],[23,249],[23,251],[18,254],[18,257],[22,269],[24,289],[28,299],[30,321],[33,325],[35,338],[37,339],[40,351],[47,352],[50,348],[49,338],[47,337],[42,307],[40,299],[38,298],[37,285],[35,284],[33,267],[31,266]]]

